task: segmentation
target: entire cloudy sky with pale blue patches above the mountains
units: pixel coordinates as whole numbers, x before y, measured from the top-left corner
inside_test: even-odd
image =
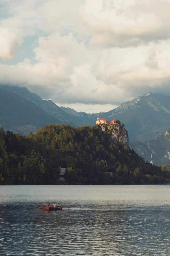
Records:
[[[109,111],[170,95],[170,0],[0,0],[0,84]]]

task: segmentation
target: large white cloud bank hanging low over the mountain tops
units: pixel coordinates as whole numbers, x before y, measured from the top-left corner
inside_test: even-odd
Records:
[[[41,97],[63,105],[119,105],[138,92],[163,90],[163,85],[170,81],[169,41],[91,50],[73,34],[53,33],[39,37],[37,43],[37,63],[25,59],[17,65],[1,65],[1,83],[25,85]]]

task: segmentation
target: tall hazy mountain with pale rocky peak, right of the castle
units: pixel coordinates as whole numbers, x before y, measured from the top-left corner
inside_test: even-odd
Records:
[[[120,119],[130,141],[145,142],[170,127],[170,96],[147,93],[103,113],[107,120]]]

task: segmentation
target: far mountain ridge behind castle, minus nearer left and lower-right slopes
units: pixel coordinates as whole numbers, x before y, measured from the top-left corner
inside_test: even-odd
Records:
[[[132,101],[122,103],[118,108],[100,113],[87,114],[70,108],[58,107],[51,100],[42,100],[27,88],[17,86],[0,86],[0,88],[20,95],[36,104],[50,116],[70,124],[83,126],[96,124],[97,117],[106,120],[120,119],[128,130],[129,140],[145,142],[170,127],[170,96],[147,93]],[[150,153],[150,152],[149,152]]]

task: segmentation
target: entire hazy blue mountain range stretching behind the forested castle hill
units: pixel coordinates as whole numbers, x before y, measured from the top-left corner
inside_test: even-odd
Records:
[[[150,161],[152,152],[153,158],[158,157],[155,164],[170,164],[170,140],[166,134],[170,134],[170,96],[147,93],[108,112],[85,113],[59,107],[25,87],[0,85],[0,126],[5,130],[27,136],[49,124],[93,126],[97,117],[119,119],[128,130],[130,146],[139,155]]]

